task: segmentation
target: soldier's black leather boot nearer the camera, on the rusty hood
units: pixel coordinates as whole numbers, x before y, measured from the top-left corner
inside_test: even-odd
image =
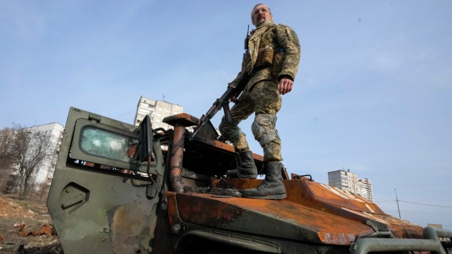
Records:
[[[266,165],[265,179],[258,187],[242,190],[243,197],[258,199],[283,199],[286,197],[286,187],[282,182],[280,162],[269,162]]]

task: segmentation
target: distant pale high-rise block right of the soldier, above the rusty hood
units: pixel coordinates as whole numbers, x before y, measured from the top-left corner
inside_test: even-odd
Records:
[[[350,169],[328,172],[328,185],[358,194],[371,202],[374,200],[371,181],[358,178],[358,174]]]

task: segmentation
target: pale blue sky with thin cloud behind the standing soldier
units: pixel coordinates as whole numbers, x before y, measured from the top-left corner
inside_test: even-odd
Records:
[[[64,125],[70,106],[131,123],[141,95],[199,117],[239,71],[255,4],[0,1],[0,128]],[[397,189],[403,219],[452,229],[452,2],[267,4],[301,43],[277,123],[289,173],[350,169],[387,213]]]

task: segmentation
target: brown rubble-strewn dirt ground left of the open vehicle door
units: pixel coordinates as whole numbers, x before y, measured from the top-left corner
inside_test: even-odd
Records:
[[[0,194],[0,254],[63,253],[45,201]]]

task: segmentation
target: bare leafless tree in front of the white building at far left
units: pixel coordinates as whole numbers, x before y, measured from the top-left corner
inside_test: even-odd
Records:
[[[6,150],[6,158],[17,170],[19,177],[19,198],[24,199],[33,185],[31,176],[40,166],[51,159],[52,138],[33,128],[15,124],[11,130],[12,141]]]

